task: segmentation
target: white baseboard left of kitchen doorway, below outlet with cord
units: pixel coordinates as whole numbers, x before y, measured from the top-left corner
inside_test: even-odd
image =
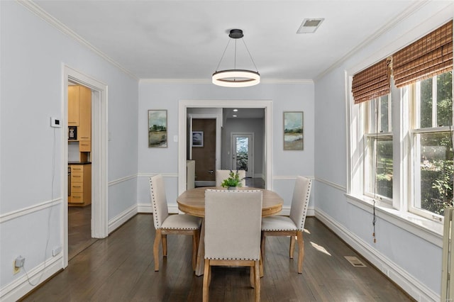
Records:
[[[15,279],[10,284],[4,286],[4,288],[0,289],[0,301],[3,302],[13,302],[18,301],[19,298],[25,296],[28,292],[35,289],[36,286],[42,284],[45,280],[50,278],[53,274],[60,271],[63,268],[63,255],[60,253],[55,257],[51,257],[50,259],[46,260],[45,264],[40,264],[38,267],[31,269],[28,271],[28,276],[30,277],[31,284],[35,284],[32,286],[28,283],[27,276],[22,269],[20,274],[23,274],[18,279]]]

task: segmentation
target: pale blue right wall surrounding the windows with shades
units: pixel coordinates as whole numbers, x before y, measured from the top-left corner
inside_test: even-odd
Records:
[[[404,226],[402,220],[379,213],[377,242],[372,237],[372,213],[345,197],[347,143],[345,72],[371,65],[453,17],[448,1],[430,1],[392,30],[355,52],[315,82],[316,216],[418,301],[439,301],[441,246]]]

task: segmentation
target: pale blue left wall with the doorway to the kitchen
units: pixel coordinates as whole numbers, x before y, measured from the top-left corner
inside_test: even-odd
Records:
[[[8,301],[24,294],[21,285],[28,286],[23,270],[13,274],[18,255],[26,257],[29,275],[39,273],[47,260],[52,271],[44,279],[63,265],[62,253],[52,258],[52,248],[63,245],[67,142],[62,141],[65,129],[50,128],[50,116],[66,118],[62,66],[109,89],[109,220],[137,206],[138,80],[18,2],[0,1],[0,11],[0,300]]]

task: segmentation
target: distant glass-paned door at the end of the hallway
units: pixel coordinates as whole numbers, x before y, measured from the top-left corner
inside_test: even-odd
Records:
[[[253,133],[232,133],[232,169],[245,170],[246,177],[254,177]]]

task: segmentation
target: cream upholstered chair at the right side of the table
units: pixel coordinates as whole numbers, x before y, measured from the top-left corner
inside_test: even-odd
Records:
[[[303,273],[304,241],[303,231],[306,221],[309,196],[311,195],[311,179],[297,177],[293,191],[290,216],[268,216],[262,218],[262,259],[265,259],[266,236],[290,236],[289,256],[293,258],[295,236],[298,240],[298,273]]]

